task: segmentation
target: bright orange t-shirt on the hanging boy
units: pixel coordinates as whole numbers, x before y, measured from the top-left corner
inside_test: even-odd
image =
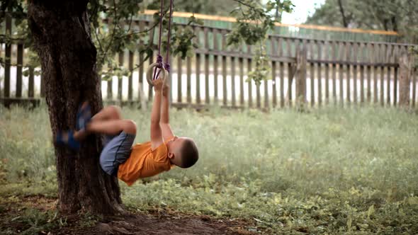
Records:
[[[154,150],[151,149],[151,142],[132,146],[129,159],[119,165],[118,178],[130,186],[138,178],[155,176],[163,171],[169,171],[171,162],[166,142]]]

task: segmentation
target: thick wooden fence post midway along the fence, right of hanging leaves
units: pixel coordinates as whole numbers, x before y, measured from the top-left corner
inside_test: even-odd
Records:
[[[305,110],[306,100],[306,64],[307,50],[305,45],[296,52],[296,107],[299,111]]]

